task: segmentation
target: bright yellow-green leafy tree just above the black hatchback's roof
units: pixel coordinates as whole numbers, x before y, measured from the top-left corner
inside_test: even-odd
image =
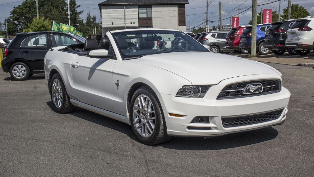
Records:
[[[28,28],[24,29],[23,32],[51,31],[51,28],[52,24],[50,20],[45,19],[44,17],[35,17],[32,23],[30,23]]]

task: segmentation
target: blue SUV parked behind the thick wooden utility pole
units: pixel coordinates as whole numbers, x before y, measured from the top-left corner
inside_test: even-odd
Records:
[[[257,51],[261,55],[269,54],[270,50],[263,46],[265,39],[265,31],[271,23],[259,24],[256,26],[256,47]],[[251,50],[252,46],[252,26],[246,26],[246,29],[241,34],[239,47],[243,50]]]

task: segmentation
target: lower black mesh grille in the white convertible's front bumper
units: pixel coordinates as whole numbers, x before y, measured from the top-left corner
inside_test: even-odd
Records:
[[[262,114],[250,115],[250,116],[241,116],[241,117],[226,117],[221,118],[222,125],[224,127],[237,127],[244,125],[252,125],[256,123],[267,122],[271,120],[278,119],[284,109],[277,111],[266,112]]]

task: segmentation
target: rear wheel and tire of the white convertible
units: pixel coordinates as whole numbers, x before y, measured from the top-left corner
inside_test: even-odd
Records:
[[[51,101],[53,109],[61,114],[69,113],[74,110],[74,106],[70,102],[70,97],[65,89],[61,76],[56,73],[51,78]]]

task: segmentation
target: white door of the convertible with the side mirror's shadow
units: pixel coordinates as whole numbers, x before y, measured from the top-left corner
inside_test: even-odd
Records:
[[[112,111],[112,70],[116,59],[73,57],[70,67],[74,96],[78,101]]]

